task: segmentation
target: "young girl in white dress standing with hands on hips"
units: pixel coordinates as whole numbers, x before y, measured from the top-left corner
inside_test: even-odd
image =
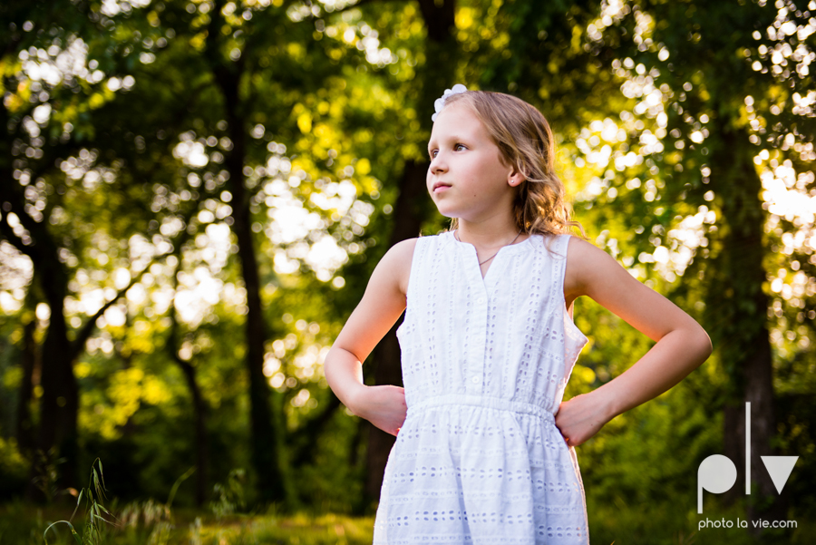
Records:
[[[396,443],[374,543],[586,544],[575,447],[711,353],[702,327],[603,250],[568,234],[548,122],[527,102],[454,86],[436,102],[427,187],[452,231],[394,245],[325,358],[340,400]],[[588,296],[656,345],[562,402],[587,343]],[[397,331],[403,388],[362,364]]]

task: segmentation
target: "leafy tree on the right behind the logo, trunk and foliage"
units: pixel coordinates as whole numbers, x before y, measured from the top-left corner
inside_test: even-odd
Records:
[[[708,248],[701,251],[703,259],[695,258],[687,272],[704,279],[704,323],[729,377],[724,392],[726,454],[744,464],[745,431],[740,423],[744,402],[751,402],[755,488],[749,513],[752,518],[782,519],[785,497],[779,499],[759,462],[761,454],[779,453],[769,333],[780,327],[769,324],[767,268],[777,261],[772,253],[772,246],[779,244],[775,240],[779,235],[784,238],[767,228],[779,217],[769,214],[778,207],[769,201],[767,191],[763,193],[763,186],[765,190],[768,186],[763,180],[768,180],[765,174],[779,176],[780,166],[801,171],[802,161],[811,154],[816,126],[812,112],[797,97],[808,96],[812,85],[806,59],[811,55],[808,36],[816,26],[809,23],[807,11],[790,2],[775,6],[743,2],[738,7],[647,2],[624,5],[612,16],[615,23],[611,32],[603,31],[604,37],[611,34],[628,47],[625,61],[632,64],[618,67],[618,73],[636,68],[637,73],[651,75],[652,92],[661,93],[665,105],[664,112],[652,111],[657,138],[665,148],[651,153],[641,148],[654,160],[657,187],[665,189],[656,192],[647,207],[654,215],[642,225],[655,237],[656,255],[661,244],[672,244],[665,234],[677,221],[663,203],[682,200],[716,216],[704,235]],[[646,92],[643,96],[648,104]],[[646,104],[636,113],[651,117]],[[757,165],[764,167],[763,156],[771,154],[778,159],[770,161],[771,168],[761,178]],[[780,161],[782,157],[787,159]],[[807,191],[812,180],[800,176],[799,184],[797,190]],[[660,198],[663,202],[658,202]],[[802,221],[795,216],[789,215],[783,230],[801,230]],[[801,245],[791,252],[799,254],[802,270],[811,277],[813,249]],[[792,261],[788,267],[796,267]],[[805,308],[803,299],[785,305]],[[802,323],[803,313],[798,316]]]

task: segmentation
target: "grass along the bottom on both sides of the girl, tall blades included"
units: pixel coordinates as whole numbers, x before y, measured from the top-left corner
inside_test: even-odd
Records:
[[[209,511],[171,509],[182,475],[165,503],[137,501],[119,505],[104,496],[102,463],[94,462],[88,487],[76,507],[52,503],[37,507],[21,502],[0,506],[0,545],[355,545],[371,543],[374,517],[339,514],[242,514],[243,474],[231,472],[216,485]],[[691,503],[692,505],[687,505]],[[689,509],[691,507],[692,509]],[[612,502],[588,498],[589,535],[594,545],[811,545],[816,522],[809,513],[792,514],[795,529],[766,530],[756,538],[741,528],[700,528],[701,521],[745,520],[743,505],[724,508],[711,498],[705,515],[694,502],[655,504],[618,497]],[[46,539],[47,538],[47,539]]]

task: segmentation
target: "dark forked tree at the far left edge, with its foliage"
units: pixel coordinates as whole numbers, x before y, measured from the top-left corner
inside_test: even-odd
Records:
[[[66,187],[53,180],[63,177],[61,167],[68,168],[63,158],[72,154],[80,163],[77,165],[74,160],[70,166],[76,166],[80,175],[92,171],[93,154],[84,148],[83,143],[71,138],[71,131],[74,125],[80,134],[91,131],[88,126],[83,126],[83,116],[77,112],[87,112],[90,102],[95,100],[99,105],[106,98],[100,92],[96,92],[90,102],[73,96],[83,83],[92,85],[87,80],[88,71],[84,67],[77,71],[77,64],[71,64],[82,54],[83,48],[82,41],[77,41],[75,34],[86,32],[91,26],[81,11],[70,3],[56,3],[48,10],[7,5],[4,12],[8,24],[4,28],[3,41],[4,107],[0,108],[0,122],[6,131],[0,141],[3,146],[0,201],[4,214],[0,233],[31,259],[34,277],[50,315],[41,349],[43,394],[36,447],[43,456],[38,460],[49,463],[53,462],[54,454],[62,455],[66,459],[63,483],[73,485],[76,482],[79,408],[73,363],[92,335],[97,318],[124,291],[108,300],[95,315],[81,326],[74,327],[73,331],[66,324],[64,301],[69,294],[71,269],[76,265],[73,256],[82,249],[84,241],[83,233],[68,224],[64,211],[70,206],[66,203],[75,197],[82,200],[86,195],[77,195],[75,190],[69,189],[71,181]],[[30,51],[37,55],[34,59],[30,59]],[[65,110],[57,112],[52,104]],[[63,122],[63,126],[59,122]],[[93,175],[95,180],[102,178],[96,170]],[[115,213],[116,206],[122,205],[123,200],[117,199],[115,194],[107,197],[110,210]],[[24,375],[29,376],[27,372]],[[24,403],[25,395],[21,397],[21,403]],[[43,471],[42,466],[34,464],[34,475],[42,475]]]

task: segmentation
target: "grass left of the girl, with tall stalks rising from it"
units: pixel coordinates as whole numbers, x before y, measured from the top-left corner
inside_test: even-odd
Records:
[[[180,477],[165,503],[136,501],[120,507],[112,501],[106,506],[102,462],[96,460],[88,487],[72,491],[77,498],[73,511],[57,503],[0,506],[0,545],[356,545],[372,541],[373,517],[239,513],[245,508],[241,470],[230,472],[228,482],[215,486],[210,511],[171,509],[180,483],[190,474]]]

